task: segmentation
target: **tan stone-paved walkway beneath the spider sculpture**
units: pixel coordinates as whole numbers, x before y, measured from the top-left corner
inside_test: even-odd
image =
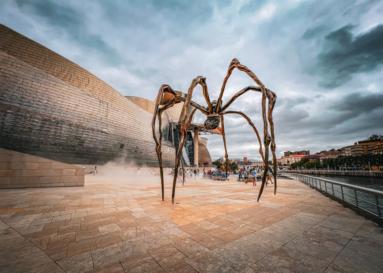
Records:
[[[131,174],[0,190],[0,272],[382,272],[376,224],[294,180],[259,203],[233,180],[177,184],[174,205],[170,177],[164,202]]]

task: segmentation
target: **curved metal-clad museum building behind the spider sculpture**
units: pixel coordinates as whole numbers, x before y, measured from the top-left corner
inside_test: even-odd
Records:
[[[74,62],[2,24],[0,90],[3,150],[68,164],[118,160],[158,167],[151,127],[154,101],[123,96]],[[164,167],[174,167],[182,104],[164,112],[162,128],[157,124],[163,133]],[[185,165],[211,164],[207,139],[201,137],[208,133],[219,134],[221,129],[212,132],[203,124],[190,125],[182,151]]]

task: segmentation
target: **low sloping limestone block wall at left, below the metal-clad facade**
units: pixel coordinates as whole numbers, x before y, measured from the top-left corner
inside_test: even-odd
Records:
[[[0,148],[0,188],[83,186],[85,168]]]

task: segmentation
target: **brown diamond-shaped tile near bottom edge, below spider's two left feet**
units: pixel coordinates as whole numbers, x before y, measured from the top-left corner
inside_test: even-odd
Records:
[[[148,252],[162,268],[167,268],[188,259],[188,257],[170,244],[148,250]]]

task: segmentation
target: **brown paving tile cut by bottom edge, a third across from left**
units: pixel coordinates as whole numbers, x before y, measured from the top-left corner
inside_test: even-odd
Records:
[[[162,271],[161,266],[146,251],[120,261],[125,272],[157,273]]]

